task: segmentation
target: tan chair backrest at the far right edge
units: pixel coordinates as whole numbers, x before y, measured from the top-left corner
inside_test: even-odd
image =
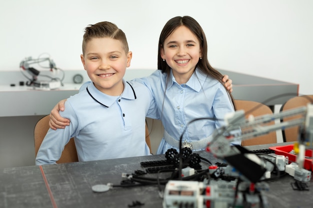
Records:
[[[287,100],[280,108],[281,111],[290,110],[293,108],[299,108],[301,106],[306,106],[313,100],[313,95],[296,96]],[[290,116],[288,118],[283,118],[282,121],[289,121],[293,119],[301,118],[300,115]],[[294,142],[298,140],[299,127],[290,127],[282,130],[282,139],[284,142]]]

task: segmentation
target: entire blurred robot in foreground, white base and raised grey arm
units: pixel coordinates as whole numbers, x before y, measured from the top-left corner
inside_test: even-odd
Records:
[[[293,115],[305,118],[266,125],[269,121]],[[244,118],[244,112],[236,111],[225,118],[226,126],[213,133],[212,141],[207,144],[207,151],[216,158],[225,160],[229,166],[215,168],[211,175],[227,174],[235,176],[233,181],[210,180],[210,182],[169,181],[164,190],[163,208],[268,208],[269,204],[263,193],[268,185],[260,182],[268,178],[274,169],[285,171],[298,182],[308,182],[311,172],[303,168],[305,149],[313,150],[313,105],[291,109],[279,114]],[[241,146],[231,146],[236,140],[245,140],[270,131],[292,126],[300,127],[298,142],[294,145],[297,154],[296,163],[290,163],[288,157],[277,156],[263,160]],[[240,131],[237,131],[240,129]],[[238,133],[239,132],[239,133]],[[246,168],[249,167],[249,168]],[[313,166],[312,166],[313,167]],[[230,171],[234,168],[236,171]]]

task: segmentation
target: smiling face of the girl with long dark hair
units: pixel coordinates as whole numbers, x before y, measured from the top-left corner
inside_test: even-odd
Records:
[[[183,25],[177,27],[165,39],[160,52],[179,84],[189,80],[201,57],[198,38]]]

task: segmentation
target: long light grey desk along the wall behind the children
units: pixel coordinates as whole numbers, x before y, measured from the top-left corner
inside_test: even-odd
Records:
[[[154,70],[126,70],[125,80],[148,76]],[[220,70],[233,80],[233,97],[239,100],[263,102],[277,96],[267,103],[268,106],[283,104],[289,98],[298,94],[298,84],[292,84],[272,79],[266,79],[231,71]],[[20,72],[0,72],[0,117],[31,116],[49,114],[53,106],[62,99],[78,92],[81,84],[74,84],[74,74],[81,74],[84,81],[89,80],[84,70],[65,71],[64,86],[56,90],[37,90],[32,87],[19,86],[18,82],[25,80]],[[13,83],[15,86],[10,86]],[[288,96],[278,97],[289,93]]]

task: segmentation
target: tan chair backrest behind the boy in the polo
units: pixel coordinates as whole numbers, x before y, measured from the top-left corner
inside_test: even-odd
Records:
[[[35,125],[33,136],[35,144],[35,156],[38,153],[42,140],[44,139],[47,131],[49,130],[49,115],[41,118]],[[150,136],[147,125],[145,125],[145,142],[151,152]],[[74,138],[70,138],[69,142],[65,145],[62,155],[56,163],[71,163],[78,162]]]

